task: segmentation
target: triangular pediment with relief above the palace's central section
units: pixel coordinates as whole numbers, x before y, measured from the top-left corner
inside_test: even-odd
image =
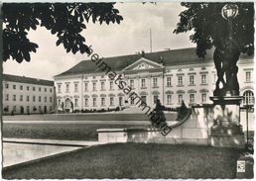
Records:
[[[163,65],[157,62],[154,62],[150,59],[142,57],[135,61],[134,63],[130,64],[129,66],[125,67],[123,70],[146,70],[146,69],[153,69],[153,68],[163,68]]]

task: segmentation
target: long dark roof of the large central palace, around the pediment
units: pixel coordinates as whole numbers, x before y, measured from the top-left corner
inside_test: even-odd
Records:
[[[100,54],[99,57],[101,57]],[[102,61],[104,61],[109,67],[111,67],[112,71],[120,71],[123,68],[129,66],[130,64],[134,63],[135,61],[139,60],[141,57],[142,53],[139,53],[122,56],[104,57]],[[195,54],[195,47],[157,52],[145,52],[144,57],[157,63],[161,63],[162,61],[164,61],[165,66],[207,63],[213,61],[213,48],[208,49],[207,53],[203,58],[198,57]],[[248,56],[241,54],[240,59],[243,59],[245,57],[253,58],[253,55]],[[55,77],[96,72],[102,72],[102,70],[98,68],[93,61],[88,59],[80,61],[70,69],[64,71],[59,75],[56,75]]]

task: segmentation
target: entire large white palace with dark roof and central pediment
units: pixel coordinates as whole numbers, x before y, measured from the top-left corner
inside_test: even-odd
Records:
[[[212,54],[213,49],[199,58],[195,48],[183,48],[104,57],[103,61],[121,75],[147,105],[154,106],[158,98],[166,107],[175,108],[183,100],[188,106],[212,103],[209,97],[213,95],[217,78]],[[247,100],[253,104],[253,55],[241,54],[238,67],[240,95],[244,96],[244,103]],[[59,109],[62,107],[68,112],[72,105],[73,110],[79,111],[107,110],[135,105],[102,68],[88,59],[56,75]]]

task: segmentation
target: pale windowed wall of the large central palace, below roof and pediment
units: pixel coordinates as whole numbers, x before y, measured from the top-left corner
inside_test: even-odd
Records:
[[[248,90],[253,92],[253,66],[253,59],[238,62],[239,71],[237,77],[241,96]],[[165,66],[164,68],[153,70],[123,70],[117,73],[122,75],[127,85],[130,85],[131,80],[134,81],[134,89],[132,91],[140,97],[146,96],[146,102],[149,106],[154,106],[154,95],[157,95],[161,103],[166,107],[178,107],[181,105],[181,100],[184,100],[187,105],[212,103],[209,97],[213,95],[217,78],[213,62]],[[250,77],[248,77],[247,73],[247,80],[246,72],[250,72]],[[179,76],[183,79],[181,85],[179,84]],[[191,76],[193,78],[190,78]],[[171,85],[167,85],[168,77],[171,77]],[[157,78],[157,86],[155,87],[153,85],[154,78]],[[142,79],[145,79],[146,87],[142,87]],[[193,79],[193,83],[191,79]],[[113,89],[110,89],[110,81],[112,80],[107,75],[104,75],[104,72],[94,74],[86,74],[84,72],[84,74],[56,77],[55,86],[57,87],[60,109],[66,99],[73,102],[74,110],[116,108],[120,106],[119,99],[121,98],[119,97],[122,97],[121,106],[133,106],[131,99],[115,83],[113,83]],[[101,82],[104,82],[105,89],[101,89]],[[74,90],[75,83],[78,86],[77,91]],[[93,83],[95,83],[95,90],[93,90]],[[66,84],[69,84],[69,91],[66,91]],[[85,84],[87,84],[87,90],[85,90]],[[59,85],[61,85],[61,91],[59,90]],[[168,95],[172,97],[171,102],[168,102]],[[180,102],[179,95],[182,97]],[[110,104],[110,97],[113,97],[112,105]],[[96,105],[93,105],[93,98],[96,99]],[[87,105],[85,105],[85,99],[88,100]],[[101,105],[101,99],[105,99],[104,105]],[[128,103],[125,103],[125,100]],[[70,109],[67,111],[70,111]]]

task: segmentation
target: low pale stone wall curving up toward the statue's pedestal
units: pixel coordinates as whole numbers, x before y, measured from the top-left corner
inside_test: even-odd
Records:
[[[212,107],[192,107],[191,114],[174,126],[172,132],[162,136],[160,130],[150,128],[100,129],[100,142],[158,142],[171,144],[210,144],[209,134],[212,123]]]

